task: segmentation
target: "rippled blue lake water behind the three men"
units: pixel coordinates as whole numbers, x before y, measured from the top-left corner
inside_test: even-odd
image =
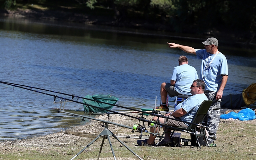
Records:
[[[169,49],[166,43],[203,49],[206,37],[177,39],[177,35],[164,32],[2,18],[0,81],[81,97],[111,94],[119,98],[117,105],[153,108],[155,96],[157,105],[160,102],[160,84],[170,81],[180,55],[186,55],[199,73],[201,60],[179,49]],[[229,65],[224,95],[238,94],[255,83],[254,50],[221,44],[219,50]],[[59,107],[59,103],[53,103],[54,97],[5,84],[0,88],[0,141],[58,132],[88,121],[57,113],[52,109]],[[173,98],[170,105],[174,105]],[[65,108],[83,110],[74,102],[66,103]],[[112,110],[124,111],[119,107]]]

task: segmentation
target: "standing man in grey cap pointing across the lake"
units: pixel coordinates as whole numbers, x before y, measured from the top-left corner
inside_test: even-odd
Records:
[[[180,48],[184,52],[197,55],[202,59],[200,79],[205,83],[204,94],[208,100],[212,100],[212,106],[207,113],[207,130],[209,132],[208,143],[212,144],[216,140],[216,132],[219,126],[220,102],[223,90],[228,80],[228,63],[225,55],[218,50],[218,40],[208,38],[203,42],[206,49],[194,49],[180,44],[168,43],[169,48]],[[205,125],[205,124],[204,124]]]

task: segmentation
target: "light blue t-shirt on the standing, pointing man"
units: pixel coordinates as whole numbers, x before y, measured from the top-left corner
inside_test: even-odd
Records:
[[[225,55],[217,54],[207,69],[206,66],[215,54],[206,52],[206,49],[196,49],[196,55],[198,59],[202,59],[200,79],[205,83],[205,90],[217,92],[222,82],[221,75],[228,75],[228,62]]]

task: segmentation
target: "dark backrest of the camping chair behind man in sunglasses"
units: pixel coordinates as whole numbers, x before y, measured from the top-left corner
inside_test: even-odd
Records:
[[[211,105],[212,105],[212,101],[203,101],[202,104],[198,107],[198,110],[194,115],[194,118],[192,119],[191,123],[196,123],[196,124],[202,123]],[[197,126],[194,124],[191,124],[190,126],[188,126],[188,128],[196,128],[196,127]]]

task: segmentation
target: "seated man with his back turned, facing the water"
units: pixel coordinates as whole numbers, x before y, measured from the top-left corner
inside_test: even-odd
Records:
[[[198,79],[197,71],[194,67],[188,65],[187,57],[182,55],[178,59],[179,66],[176,66],[173,70],[171,83],[163,82],[160,87],[160,95],[162,100],[162,105],[156,107],[159,111],[169,111],[168,106],[166,106],[167,94],[170,97],[177,95],[189,95],[190,85],[193,80]]]

